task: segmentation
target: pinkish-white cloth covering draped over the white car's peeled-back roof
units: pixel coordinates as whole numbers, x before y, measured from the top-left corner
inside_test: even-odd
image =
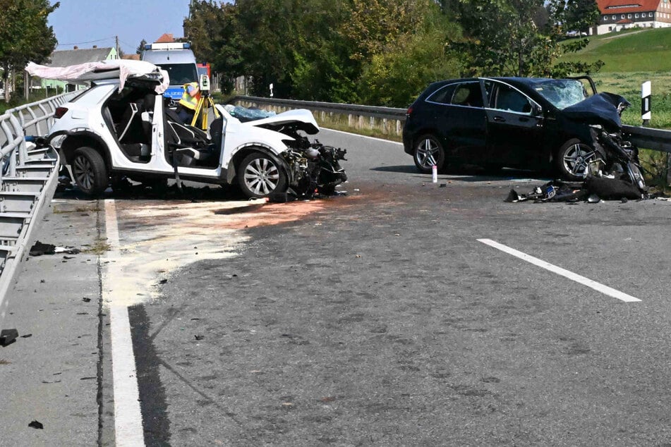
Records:
[[[29,62],[25,71],[31,76],[43,79],[66,80],[70,82],[85,82],[96,79],[119,78],[119,90],[123,88],[128,76],[142,76],[150,73],[160,73],[162,82],[157,85],[156,92],[165,92],[170,85],[167,71],[147,61],[133,61],[128,59],[109,59],[101,62],[87,62],[67,67],[47,67]]]

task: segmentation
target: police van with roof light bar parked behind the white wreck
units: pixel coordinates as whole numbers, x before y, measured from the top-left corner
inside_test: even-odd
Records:
[[[163,68],[170,75],[170,87],[163,97],[171,107],[182,97],[184,84],[199,80],[195,56],[187,42],[146,44],[140,59]]]

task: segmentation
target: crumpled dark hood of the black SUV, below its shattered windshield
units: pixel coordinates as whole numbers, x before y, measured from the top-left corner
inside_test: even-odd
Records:
[[[627,99],[613,93],[598,93],[584,101],[567,107],[562,111],[564,116],[586,124],[601,124],[607,128],[621,128],[619,107],[630,106]]]

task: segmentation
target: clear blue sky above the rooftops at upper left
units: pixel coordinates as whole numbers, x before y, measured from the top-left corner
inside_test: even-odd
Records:
[[[61,6],[49,14],[49,25],[59,41],[57,50],[119,47],[135,54],[142,39],[154,42],[165,32],[183,37],[183,20],[189,0],[60,0]],[[55,4],[56,0],[50,0]]]

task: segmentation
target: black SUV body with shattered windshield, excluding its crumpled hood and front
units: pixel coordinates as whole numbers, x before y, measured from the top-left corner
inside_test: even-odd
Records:
[[[403,144],[417,168],[435,164],[586,173],[590,125],[564,109],[596,94],[591,78],[468,78],[434,82],[406,112]]]

